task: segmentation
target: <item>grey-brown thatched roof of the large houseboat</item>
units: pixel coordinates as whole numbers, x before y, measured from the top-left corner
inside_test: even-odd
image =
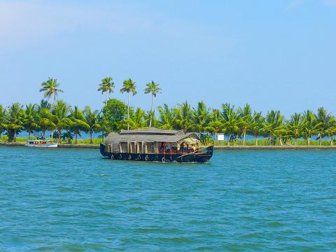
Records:
[[[107,137],[106,144],[116,142],[167,142],[176,143],[182,139],[192,137],[193,139],[200,140],[196,134],[183,134],[181,130],[158,130],[155,128],[141,129],[141,130],[123,130],[120,134],[110,133]]]

